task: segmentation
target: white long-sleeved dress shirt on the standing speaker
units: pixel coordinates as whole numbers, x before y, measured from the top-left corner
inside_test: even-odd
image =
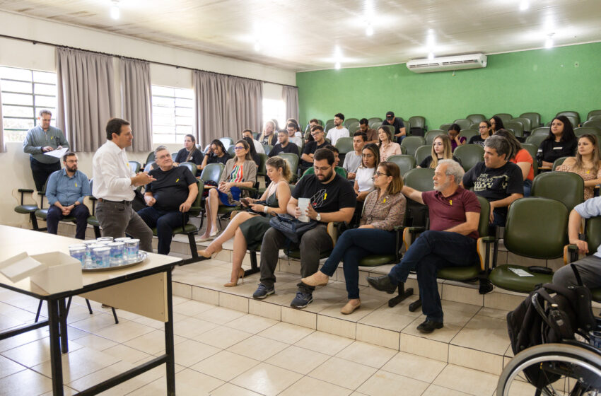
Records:
[[[109,201],[132,201],[134,187],[131,177],[134,172],[129,168],[124,148],[112,141],[100,146],[92,159],[94,177],[92,195]]]

